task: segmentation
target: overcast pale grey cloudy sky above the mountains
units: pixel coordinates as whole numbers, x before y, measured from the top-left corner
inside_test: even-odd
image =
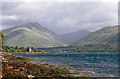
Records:
[[[3,2],[3,29],[39,22],[57,34],[118,24],[115,2]],[[1,15],[0,15],[1,17]]]

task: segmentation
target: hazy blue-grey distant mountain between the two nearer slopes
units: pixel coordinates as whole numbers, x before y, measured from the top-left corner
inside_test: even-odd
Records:
[[[72,33],[68,33],[68,34],[62,34],[62,35],[60,35],[60,37],[65,43],[71,44],[71,43],[78,41],[81,38],[87,36],[88,34],[90,34],[89,31],[80,30],[80,31],[72,32]]]

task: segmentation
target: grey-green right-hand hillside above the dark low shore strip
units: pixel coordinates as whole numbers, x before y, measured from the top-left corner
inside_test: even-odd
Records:
[[[88,36],[72,44],[73,46],[104,45],[117,47],[118,45],[118,26],[108,26],[92,32]]]

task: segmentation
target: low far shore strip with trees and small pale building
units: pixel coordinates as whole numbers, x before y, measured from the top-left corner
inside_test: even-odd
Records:
[[[99,48],[99,50],[98,50]],[[101,48],[101,49],[100,49]],[[102,49],[101,46],[85,46],[85,47],[76,47],[76,46],[67,46],[67,47],[51,47],[51,48],[34,48],[34,47],[12,47],[12,46],[3,46],[2,52],[8,53],[87,53],[87,52],[118,52],[118,48],[107,48]]]

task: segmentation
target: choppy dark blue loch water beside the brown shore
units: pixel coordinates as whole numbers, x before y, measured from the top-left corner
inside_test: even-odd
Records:
[[[63,68],[90,69],[89,76],[118,77],[118,53],[11,53],[12,55],[37,58],[32,63],[56,65]],[[87,71],[86,71],[87,72]],[[88,71],[89,72],[89,71]],[[95,72],[95,73],[94,73]],[[96,75],[99,74],[99,75]],[[79,76],[86,76],[80,75]]]

